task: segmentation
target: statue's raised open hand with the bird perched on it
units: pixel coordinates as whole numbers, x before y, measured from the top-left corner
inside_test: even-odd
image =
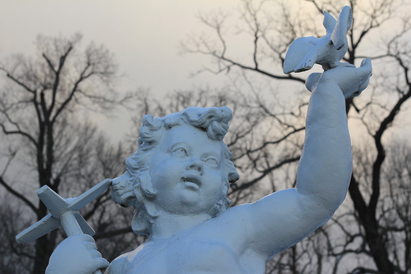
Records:
[[[365,90],[369,77],[372,76],[371,59],[361,62],[361,67],[336,67],[323,73],[312,73],[307,77],[305,86],[312,91],[318,84],[337,85],[344,94],[345,99],[355,97]]]

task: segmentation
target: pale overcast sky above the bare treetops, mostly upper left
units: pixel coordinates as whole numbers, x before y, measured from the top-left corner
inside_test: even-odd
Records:
[[[221,87],[228,81],[224,75],[203,73],[190,78],[210,59],[182,57],[178,46],[189,33],[210,31],[196,18],[198,12],[233,11],[239,4],[239,0],[0,0],[0,60],[12,53],[35,53],[39,33],[71,36],[81,32],[82,46],[95,41],[115,54],[119,74],[125,75],[118,82],[120,91],[150,88],[152,95],[161,98],[176,89]],[[251,54],[247,45],[238,44],[240,58]],[[97,122],[113,140],[120,140],[131,125],[128,116],[123,111],[115,118],[98,116]],[[401,127],[409,132],[409,119]]]

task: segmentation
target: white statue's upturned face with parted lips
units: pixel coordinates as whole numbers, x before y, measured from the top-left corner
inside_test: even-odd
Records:
[[[189,125],[166,131],[150,164],[155,204],[174,214],[207,213],[222,196],[221,144]]]

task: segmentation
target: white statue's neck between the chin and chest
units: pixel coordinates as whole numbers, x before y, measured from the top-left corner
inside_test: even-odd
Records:
[[[210,219],[211,216],[206,213],[196,215],[175,215],[162,211],[151,224],[151,233],[148,240],[172,237],[175,234]]]

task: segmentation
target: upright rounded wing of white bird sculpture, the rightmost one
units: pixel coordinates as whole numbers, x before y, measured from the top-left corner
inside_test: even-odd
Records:
[[[353,12],[349,6],[342,8],[339,13],[337,23],[331,35],[332,44],[337,50],[341,49],[347,41],[347,32],[351,28],[353,22]]]

